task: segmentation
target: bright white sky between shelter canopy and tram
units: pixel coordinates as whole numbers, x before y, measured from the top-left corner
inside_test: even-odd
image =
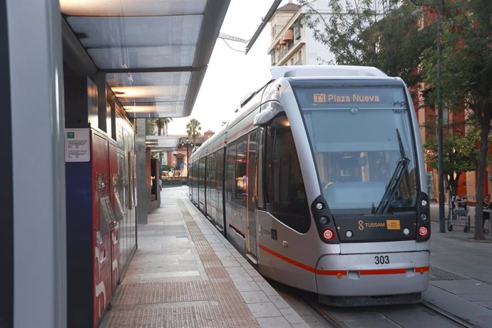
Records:
[[[249,40],[266,16],[274,0],[231,0],[220,33]],[[280,6],[288,1],[284,0]],[[245,94],[256,91],[267,82],[270,55],[270,24],[245,55],[245,43],[217,39],[208,64],[205,78],[190,116],[173,118],[168,125],[168,135],[185,135],[191,118],[200,122],[203,132],[220,130],[228,121]],[[232,48],[230,48],[232,47]]]

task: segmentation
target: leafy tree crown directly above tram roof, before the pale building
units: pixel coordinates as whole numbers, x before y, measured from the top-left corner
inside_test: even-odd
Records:
[[[375,66],[409,86],[423,80],[417,68],[434,34],[419,26],[420,7],[399,0],[329,0],[327,19],[308,0],[299,4],[307,6],[305,21],[314,39],[328,46],[336,63]]]

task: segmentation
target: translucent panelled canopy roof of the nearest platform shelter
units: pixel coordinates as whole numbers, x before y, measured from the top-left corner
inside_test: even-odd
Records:
[[[63,56],[132,118],[189,116],[230,0],[61,0]]]

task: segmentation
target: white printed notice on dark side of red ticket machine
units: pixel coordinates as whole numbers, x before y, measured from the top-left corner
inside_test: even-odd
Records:
[[[65,129],[65,161],[88,162],[91,160],[91,139],[88,128]]]

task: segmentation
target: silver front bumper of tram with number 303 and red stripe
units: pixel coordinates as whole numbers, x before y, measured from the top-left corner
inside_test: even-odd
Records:
[[[429,251],[324,255],[316,269],[318,294],[378,296],[423,292]]]

